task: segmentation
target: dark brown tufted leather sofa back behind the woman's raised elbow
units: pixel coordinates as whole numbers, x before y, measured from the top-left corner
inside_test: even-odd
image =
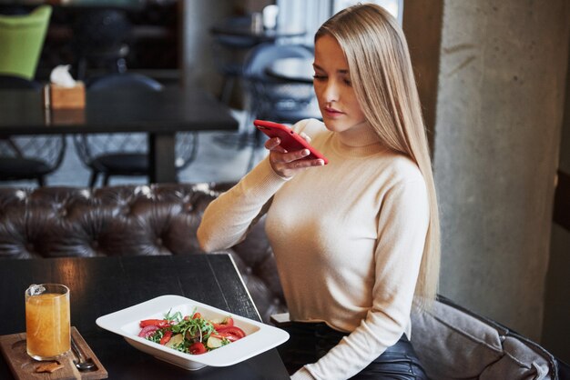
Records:
[[[230,184],[0,188],[0,257],[192,255],[209,202]],[[228,252],[264,321],[285,311],[263,222]]]

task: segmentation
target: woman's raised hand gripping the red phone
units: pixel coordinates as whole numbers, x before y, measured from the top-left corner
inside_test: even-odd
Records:
[[[303,133],[300,136],[307,142],[310,142],[310,137]],[[280,138],[270,138],[265,147],[270,150],[270,165],[273,171],[283,178],[291,178],[302,170],[312,166],[322,166],[324,162],[321,159],[304,159],[310,155],[309,149],[301,149],[294,152],[286,152],[280,146]]]

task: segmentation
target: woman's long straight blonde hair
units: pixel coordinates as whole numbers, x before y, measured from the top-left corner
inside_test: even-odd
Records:
[[[415,305],[429,307],[437,294],[440,225],[432,161],[412,61],[402,28],[379,5],[353,5],[326,21],[315,35],[334,37],[348,61],[361,110],[382,142],[410,157],[427,185],[430,224],[415,288]]]

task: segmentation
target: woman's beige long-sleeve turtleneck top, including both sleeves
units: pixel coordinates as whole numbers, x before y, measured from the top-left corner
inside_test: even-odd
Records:
[[[372,127],[351,139],[317,120],[294,129],[329,164],[287,181],[263,160],[209,205],[198,240],[207,251],[237,244],[271,201],[266,232],[291,320],[351,333],[292,378],[348,379],[411,335],[426,186],[417,165],[384,148]]]

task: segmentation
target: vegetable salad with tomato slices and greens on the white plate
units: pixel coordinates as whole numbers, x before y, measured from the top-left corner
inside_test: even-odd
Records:
[[[214,322],[199,313],[183,316],[168,312],[164,319],[145,319],[139,325],[138,336],[191,355],[207,353],[245,336],[231,316]]]

